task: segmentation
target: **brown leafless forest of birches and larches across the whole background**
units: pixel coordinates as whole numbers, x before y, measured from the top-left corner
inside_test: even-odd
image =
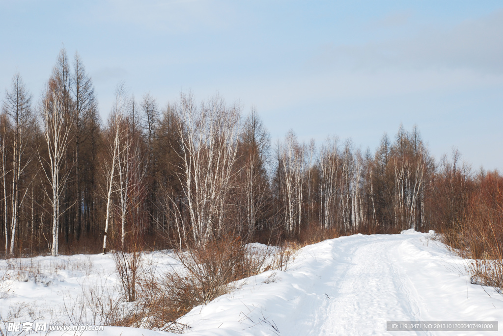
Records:
[[[162,107],[124,84],[102,121],[91,77],[65,50],[39,99],[14,75],[0,146],[6,256],[229,233],[263,242],[413,228],[456,240],[482,198],[501,209],[497,171],[474,172],[456,151],[435,160],[415,127],[385,134],[374,152],[337,137],[300,142],[293,131],[271,143],[253,108],[245,116],[219,95],[191,93]]]

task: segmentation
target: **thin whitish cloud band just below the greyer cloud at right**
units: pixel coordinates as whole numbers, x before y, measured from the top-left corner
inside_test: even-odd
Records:
[[[226,96],[241,97],[268,110],[285,109],[310,101],[388,98],[422,93],[452,93],[503,85],[503,74],[470,69],[332,70],[325,73],[264,78],[219,86]]]

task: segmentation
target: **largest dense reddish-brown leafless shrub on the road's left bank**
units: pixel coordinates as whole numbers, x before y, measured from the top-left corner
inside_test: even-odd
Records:
[[[182,268],[164,274],[160,280],[151,273],[140,282],[146,312],[143,322],[149,328],[183,331],[187,326],[176,322],[180,316],[230,292],[237,280],[260,273],[268,252],[228,236],[200,247],[175,250],[175,256]]]

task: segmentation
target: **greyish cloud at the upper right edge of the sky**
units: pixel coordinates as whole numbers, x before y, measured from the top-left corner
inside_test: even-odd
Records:
[[[313,64],[357,69],[451,68],[503,72],[503,11],[451,29],[430,27],[416,36],[360,45],[326,45]]]

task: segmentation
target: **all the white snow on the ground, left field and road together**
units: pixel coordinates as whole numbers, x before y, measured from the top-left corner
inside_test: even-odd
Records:
[[[191,326],[190,335],[501,333],[386,331],[386,321],[503,320],[503,296],[490,287],[471,284],[464,261],[430,238],[431,234],[411,232],[354,235],[306,246],[287,271],[267,271],[244,279],[238,289],[194,308],[180,322]],[[143,258],[156,265],[159,273],[179,267],[167,253]],[[30,264],[31,270],[17,270],[20,265],[29,269],[26,265]],[[76,317],[68,307],[78,305],[75,298],[82,287],[117,288],[110,255],[2,260],[0,270],[10,277],[0,282],[0,313],[10,320],[39,318],[49,324],[71,324]],[[105,327],[83,334],[169,333]]]

